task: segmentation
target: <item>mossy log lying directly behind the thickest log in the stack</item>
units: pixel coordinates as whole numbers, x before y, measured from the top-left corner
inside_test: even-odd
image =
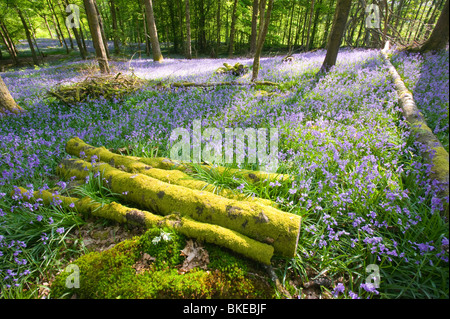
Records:
[[[230,189],[216,190],[213,185],[192,178],[181,170],[166,170],[162,168],[154,168],[152,165],[148,165],[139,161],[139,158],[132,158],[129,156],[115,154],[104,147],[94,147],[92,145],[86,144],[78,137],[72,138],[67,142],[66,152],[74,156],[80,156],[80,153],[83,152],[86,156],[86,160],[88,161],[90,161],[93,156],[96,156],[99,161],[109,163],[111,166],[122,169],[128,173],[141,173],[159,179],[166,183],[217,193],[220,196],[230,199],[245,200],[273,207],[277,206],[276,203],[272,202],[271,200],[257,197],[247,197],[237,192],[233,192]]]

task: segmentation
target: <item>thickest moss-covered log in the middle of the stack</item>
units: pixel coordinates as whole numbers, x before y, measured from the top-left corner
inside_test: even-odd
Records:
[[[180,213],[194,220],[215,224],[257,241],[271,244],[275,253],[295,256],[301,217],[274,207],[236,201],[209,192],[171,185],[140,173],[126,173],[109,164],[92,165],[83,160],[63,160],[57,172],[83,178],[99,172],[115,193],[126,193],[127,201],[161,215]]]

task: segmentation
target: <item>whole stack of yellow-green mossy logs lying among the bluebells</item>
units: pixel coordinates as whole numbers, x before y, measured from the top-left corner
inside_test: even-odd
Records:
[[[301,218],[283,212],[272,201],[245,197],[232,190],[215,188],[187,174],[188,166],[167,158],[141,158],[94,147],[79,138],[67,142],[66,151],[83,159],[66,159],[57,167],[65,178],[83,179],[100,173],[105,186],[123,194],[128,205],[101,204],[91,198],[53,195],[47,191],[27,193],[25,199],[38,198],[50,205],[55,197],[67,209],[144,227],[171,227],[190,238],[217,244],[248,258],[270,264],[273,254],[294,257]],[[95,163],[95,159],[99,162]],[[210,167],[220,172],[223,167]],[[267,179],[289,179],[287,175],[235,170],[249,183]]]

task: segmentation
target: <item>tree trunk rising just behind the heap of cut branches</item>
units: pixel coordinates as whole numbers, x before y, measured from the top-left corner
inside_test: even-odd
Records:
[[[100,31],[94,1],[95,0],[83,0],[100,72],[109,73],[108,57],[106,56],[105,45],[103,44],[102,33]]]

